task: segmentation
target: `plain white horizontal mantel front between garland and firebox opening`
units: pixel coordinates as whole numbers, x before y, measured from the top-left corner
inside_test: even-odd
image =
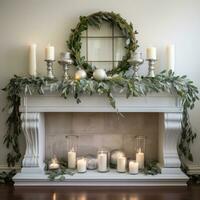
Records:
[[[73,97],[64,99],[54,95],[35,95],[27,97],[27,112],[116,112],[104,96],[82,96],[77,104]],[[151,94],[142,97],[116,95],[119,112],[181,112],[180,99],[168,93]],[[20,111],[25,112],[22,100]]]

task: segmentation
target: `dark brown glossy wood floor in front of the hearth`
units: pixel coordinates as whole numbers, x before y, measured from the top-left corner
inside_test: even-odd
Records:
[[[0,200],[200,200],[188,187],[18,187],[0,185]]]

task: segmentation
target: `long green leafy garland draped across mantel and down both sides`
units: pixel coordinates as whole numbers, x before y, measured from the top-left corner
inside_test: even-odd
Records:
[[[47,88],[49,88],[47,90]],[[81,95],[99,94],[106,96],[113,107],[115,98],[113,90],[125,93],[126,97],[145,96],[152,92],[168,92],[181,98],[183,105],[182,134],[178,144],[180,157],[193,160],[190,152],[190,144],[196,137],[192,131],[187,109],[192,109],[198,100],[198,89],[186,76],[177,76],[174,72],[162,71],[154,78],[126,78],[114,76],[109,80],[96,81],[93,79],[58,81],[46,77],[20,77],[14,76],[8,85],[3,89],[7,92],[7,109],[9,117],[7,119],[8,130],[4,137],[4,144],[10,149],[7,155],[8,166],[14,166],[21,158],[19,150],[18,136],[22,133],[20,119],[20,100],[24,95],[40,94],[46,91],[58,92],[60,96],[67,99],[73,96],[77,103],[81,103]],[[66,100],[67,103],[67,100]]]

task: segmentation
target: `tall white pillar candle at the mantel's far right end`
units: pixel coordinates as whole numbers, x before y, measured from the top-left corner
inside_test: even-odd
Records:
[[[175,67],[175,46],[173,44],[167,45],[166,54],[167,54],[167,68],[168,68],[168,70],[174,71],[174,67]]]

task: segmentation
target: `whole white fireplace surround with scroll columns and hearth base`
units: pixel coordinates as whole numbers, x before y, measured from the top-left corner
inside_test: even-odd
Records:
[[[64,99],[58,94],[23,97],[20,111],[26,140],[26,152],[21,172],[14,177],[16,186],[67,185],[67,186],[135,186],[135,185],[186,185],[188,177],[180,169],[177,142],[181,131],[182,107],[177,96],[167,93],[126,98],[115,95],[113,109],[106,97],[82,96],[77,104],[74,98]],[[161,174],[145,176],[116,172],[101,174],[89,171],[86,174],[66,176],[63,182],[49,181],[44,173],[45,123],[47,112],[157,112],[159,113],[159,165]]]

